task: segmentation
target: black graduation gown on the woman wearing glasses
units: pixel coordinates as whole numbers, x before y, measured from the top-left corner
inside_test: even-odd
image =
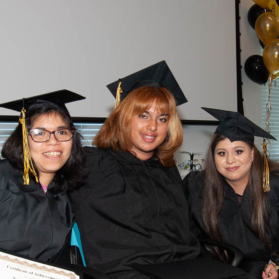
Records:
[[[73,213],[68,195],[54,194],[52,188],[45,195],[34,181],[24,185],[22,174],[0,160],[0,249],[41,261],[61,250]]]

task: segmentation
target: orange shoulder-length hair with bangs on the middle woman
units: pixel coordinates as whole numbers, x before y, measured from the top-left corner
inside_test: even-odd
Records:
[[[132,148],[130,136],[131,118],[146,111],[156,101],[157,109],[169,114],[169,126],[166,139],[156,148],[154,154],[165,167],[174,166],[174,152],[183,139],[183,131],[176,112],[173,95],[164,87],[143,86],[134,89],[107,117],[104,125],[93,140],[99,148],[111,147],[129,152]]]

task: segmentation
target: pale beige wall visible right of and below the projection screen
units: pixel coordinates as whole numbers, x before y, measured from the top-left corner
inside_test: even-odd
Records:
[[[244,72],[244,63],[246,59],[253,54],[261,54],[258,38],[247,20],[247,12],[253,4],[254,2],[252,0],[241,0],[240,7],[244,114],[251,121],[261,126],[261,85],[251,81]],[[235,34],[232,35],[235,36]],[[228,65],[228,67],[230,66]],[[181,154],[181,151],[205,154],[215,128],[215,126],[185,126],[183,128],[184,140],[182,146],[175,154],[177,164],[189,158],[189,155]],[[261,139],[256,138],[255,143],[260,149]],[[197,158],[201,158],[201,156]],[[182,177],[188,173],[188,171],[184,170],[179,170],[179,172]]]

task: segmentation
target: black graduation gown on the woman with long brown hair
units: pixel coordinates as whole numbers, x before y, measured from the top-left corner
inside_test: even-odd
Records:
[[[202,194],[203,172],[191,172],[183,179],[185,195],[189,204],[190,216],[195,221],[191,229],[199,237],[206,234],[202,219]],[[267,192],[270,206],[269,222],[274,232],[279,229],[279,176],[270,176],[271,191]],[[240,248],[244,254],[241,267],[255,276],[261,277],[265,263],[271,258],[265,245],[252,229],[251,219],[253,214],[253,199],[249,187],[246,187],[242,196],[241,204],[233,188],[224,180],[224,202],[218,214],[218,226],[224,242]],[[278,246],[276,235],[267,235],[267,239]],[[279,263],[277,263],[279,264]],[[259,278],[260,278],[259,277]]]

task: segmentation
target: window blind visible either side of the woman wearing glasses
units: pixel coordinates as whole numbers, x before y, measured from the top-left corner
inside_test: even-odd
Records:
[[[0,122],[0,154],[3,143],[13,132],[18,122]],[[103,123],[74,123],[75,128],[83,136],[82,145],[92,145],[92,139],[96,136]]]

